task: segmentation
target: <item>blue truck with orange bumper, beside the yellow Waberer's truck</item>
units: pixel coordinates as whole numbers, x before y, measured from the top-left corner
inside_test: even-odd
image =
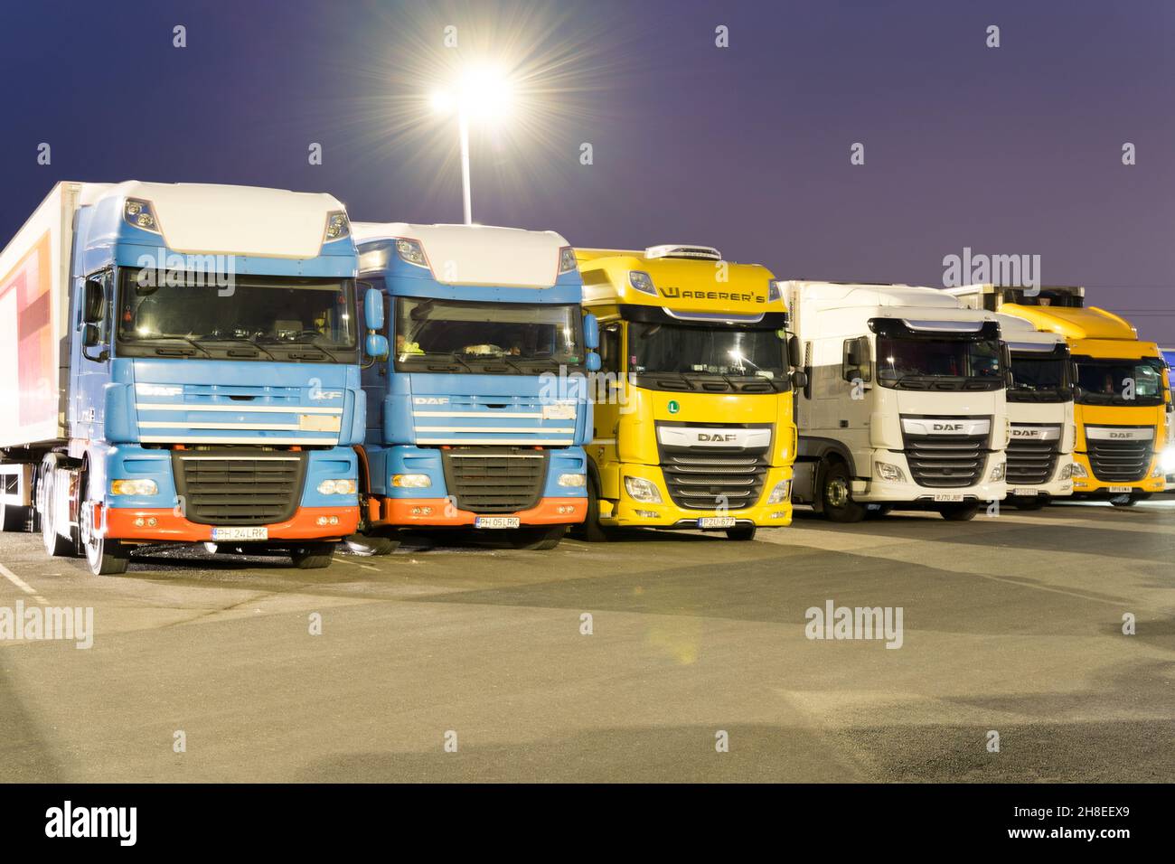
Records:
[[[553,548],[588,509],[599,368],[571,247],[489,226],[352,230],[392,343],[363,374],[365,525],[502,530],[517,548]]]

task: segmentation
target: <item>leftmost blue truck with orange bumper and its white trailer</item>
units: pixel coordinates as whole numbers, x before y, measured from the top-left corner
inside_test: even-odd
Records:
[[[358,523],[356,267],[330,195],[58,183],[0,254],[2,527],[94,574],[156,543],[329,564]]]

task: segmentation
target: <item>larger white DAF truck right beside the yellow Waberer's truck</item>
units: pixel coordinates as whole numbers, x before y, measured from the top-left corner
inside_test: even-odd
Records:
[[[994,313],[933,288],[784,282],[807,387],[792,498],[834,522],[969,520],[1007,493],[1007,349]]]

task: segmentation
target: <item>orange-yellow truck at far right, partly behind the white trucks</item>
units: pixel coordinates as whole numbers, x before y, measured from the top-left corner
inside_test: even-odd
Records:
[[[1163,447],[1171,423],[1167,364],[1154,342],[1072,286],[947,289],[965,304],[1014,315],[1069,343],[1076,448],[1073,494],[1130,507],[1163,490]]]

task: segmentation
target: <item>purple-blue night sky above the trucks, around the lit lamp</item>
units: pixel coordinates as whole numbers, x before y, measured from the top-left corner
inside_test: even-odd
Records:
[[[1046,283],[1175,344],[1169,0],[8,2],[0,242],[58,180],[330,192],[355,220],[459,221],[456,125],[424,96],[479,55],[525,87],[517,122],[474,136],[478,222],[705,243],[784,279],[940,286],[965,247],[1040,255]]]

